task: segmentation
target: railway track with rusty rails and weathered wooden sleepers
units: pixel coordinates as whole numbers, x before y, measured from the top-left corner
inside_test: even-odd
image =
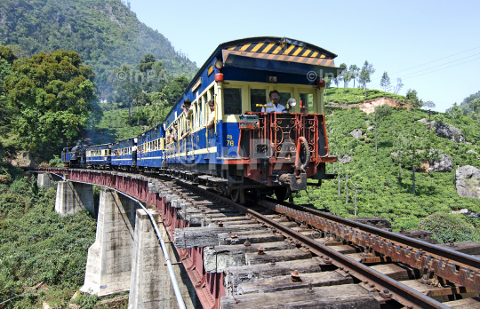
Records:
[[[300,205],[240,205],[180,177],[143,175],[164,198],[164,226],[197,295],[195,267],[222,273],[220,308],[480,308],[473,256]],[[214,307],[207,294],[202,304]]]

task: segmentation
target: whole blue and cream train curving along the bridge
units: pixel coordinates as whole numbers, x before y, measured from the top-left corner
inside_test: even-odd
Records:
[[[164,123],[103,145],[66,147],[68,167],[170,175],[235,202],[245,193],[278,200],[320,186],[330,155],[324,78],[336,54],[286,37],[220,44]],[[318,182],[308,182],[308,179]]]

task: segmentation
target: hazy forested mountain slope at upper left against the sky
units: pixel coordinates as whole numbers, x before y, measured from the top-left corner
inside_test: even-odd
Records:
[[[0,2],[0,45],[19,57],[72,50],[96,73],[100,91],[108,91],[115,67],[136,66],[153,53],[172,74],[193,75],[196,63],[158,31],[148,28],[120,0],[3,0]]]

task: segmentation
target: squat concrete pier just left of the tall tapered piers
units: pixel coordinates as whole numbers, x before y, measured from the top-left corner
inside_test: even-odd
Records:
[[[93,204],[93,186],[70,181],[59,181],[55,211],[61,216],[71,215],[85,208],[96,216]]]

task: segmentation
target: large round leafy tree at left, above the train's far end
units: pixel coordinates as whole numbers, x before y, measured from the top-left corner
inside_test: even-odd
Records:
[[[97,99],[94,77],[76,52],[42,52],[13,62],[4,90],[19,110],[12,124],[22,146],[46,159],[76,139]]]

